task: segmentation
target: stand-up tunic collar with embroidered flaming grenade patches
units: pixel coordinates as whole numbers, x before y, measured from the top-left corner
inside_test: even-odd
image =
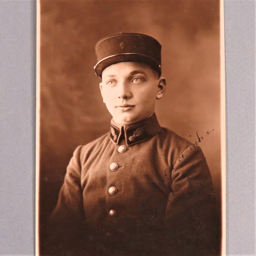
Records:
[[[116,124],[112,118],[110,124],[110,138],[119,143],[122,133],[124,134],[126,144],[132,146],[145,140],[149,140],[161,129],[157,121],[156,114],[135,124],[120,125]]]

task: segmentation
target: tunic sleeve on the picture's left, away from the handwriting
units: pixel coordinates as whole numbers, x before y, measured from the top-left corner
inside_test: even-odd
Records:
[[[58,203],[49,221],[50,255],[76,253],[85,234],[85,214],[81,187],[81,164],[79,146],[71,158],[64,183],[60,189]],[[74,254],[75,255],[75,254]]]

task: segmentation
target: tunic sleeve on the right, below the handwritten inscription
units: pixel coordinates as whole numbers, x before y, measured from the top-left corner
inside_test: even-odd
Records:
[[[200,147],[189,147],[172,170],[166,212],[166,231],[174,241],[175,255],[217,255],[216,212],[212,178]]]

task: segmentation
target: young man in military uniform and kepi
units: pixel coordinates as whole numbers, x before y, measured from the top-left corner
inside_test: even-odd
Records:
[[[70,160],[52,213],[54,255],[213,255],[205,157],[154,113],[166,88],[161,45],[121,33],[101,39],[96,54],[113,119],[110,132]]]

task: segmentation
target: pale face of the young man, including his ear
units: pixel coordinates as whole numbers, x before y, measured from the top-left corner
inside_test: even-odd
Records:
[[[120,62],[103,70],[100,91],[114,121],[133,124],[154,113],[156,99],[164,94],[165,80],[144,63]]]

